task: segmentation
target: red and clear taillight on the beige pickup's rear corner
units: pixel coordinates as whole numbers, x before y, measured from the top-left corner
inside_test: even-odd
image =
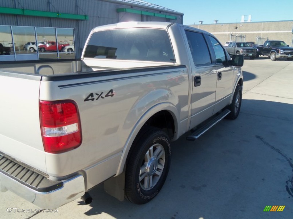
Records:
[[[81,125],[74,101],[41,101],[40,123],[45,152],[62,153],[81,145]]]

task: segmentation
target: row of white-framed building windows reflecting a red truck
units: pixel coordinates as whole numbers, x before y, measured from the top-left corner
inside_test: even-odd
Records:
[[[0,25],[0,61],[74,59],[74,29]]]

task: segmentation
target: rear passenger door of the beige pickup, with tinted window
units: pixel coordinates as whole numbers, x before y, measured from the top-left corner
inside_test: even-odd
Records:
[[[191,129],[212,116],[217,71],[203,33],[188,29],[184,32],[192,71]]]

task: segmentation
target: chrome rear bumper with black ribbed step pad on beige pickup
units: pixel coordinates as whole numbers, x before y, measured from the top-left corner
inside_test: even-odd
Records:
[[[84,195],[84,177],[53,181],[0,154],[0,191],[7,190],[40,208],[58,208]]]

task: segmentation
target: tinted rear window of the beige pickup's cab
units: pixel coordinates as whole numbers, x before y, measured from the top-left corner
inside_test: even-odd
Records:
[[[174,62],[171,42],[166,30],[125,28],[92,34],[85,58]]]

